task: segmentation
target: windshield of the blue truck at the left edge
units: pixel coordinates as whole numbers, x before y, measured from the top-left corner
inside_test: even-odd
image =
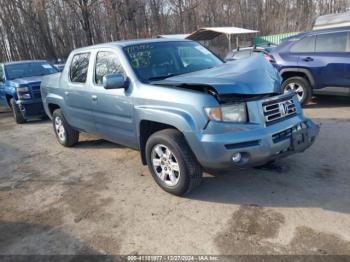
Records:
[[[57,73],[52,65],[47,62],[27,62],[5,65],[7,79],[13,80],[17,78],[43,76]]]

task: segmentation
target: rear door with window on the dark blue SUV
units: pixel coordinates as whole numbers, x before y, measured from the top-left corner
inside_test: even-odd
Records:
[[[350,87],[349,33],[338,31],[316,37],[315,57],[321,61],[320,79],[323,87]],[[339,90],[338,91],[342,91]],[[348,88],[343,89],[345,93]]]

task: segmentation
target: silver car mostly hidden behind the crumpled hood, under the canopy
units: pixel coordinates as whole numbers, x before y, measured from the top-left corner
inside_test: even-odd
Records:
[[[273,47],[269,46],[269,50],[273,50]],[[228,61],[240,60],[240,59],[248,58],[252,55],[263,55],[267,61],[272,62],[273,57],[270,55],[269,52],[270,51],[267,51],[266,48],[260,47],[260,46],[237,48],[232,50],[226,55],[225,61],[228,62]]]

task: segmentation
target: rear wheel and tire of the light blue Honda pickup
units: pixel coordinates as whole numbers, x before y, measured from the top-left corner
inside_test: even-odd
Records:
[[[64,118],[61,109],[52,114],[52,125],[57,141],[65,147],[72,147],[79,141],[79,132],[74,130]]]

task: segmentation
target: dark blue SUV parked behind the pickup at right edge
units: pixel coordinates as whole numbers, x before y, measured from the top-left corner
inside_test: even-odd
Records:
[[[285,39],[271,54],[302,104],[313,94],[350,95],[350,27],[301,33]]]

